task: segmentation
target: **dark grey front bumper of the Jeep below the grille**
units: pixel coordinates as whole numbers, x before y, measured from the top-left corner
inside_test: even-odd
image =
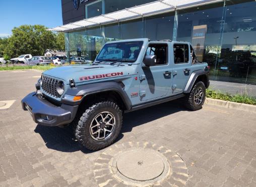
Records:
[[[61,104],[61,106],[56,106],[41,96],[41,94],[32,92],[21,101],[23,110],[28,110],[36,123],[44,126],[59,126],[73,121],[78,105]]]

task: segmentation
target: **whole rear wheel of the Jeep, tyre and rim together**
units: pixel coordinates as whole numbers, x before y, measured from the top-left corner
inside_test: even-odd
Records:
[[[185,96],[185,106],[189,110],[199,110],[202,108],[206,98],[205,84],[200,81],[197,82],[190,93]]]

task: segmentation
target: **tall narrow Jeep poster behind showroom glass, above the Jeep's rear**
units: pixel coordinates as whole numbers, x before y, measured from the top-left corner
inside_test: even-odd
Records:
[[[207,25],[194,26],[193,28],[192,46],[198,57],[198,61],[203,61],[206,32]]]

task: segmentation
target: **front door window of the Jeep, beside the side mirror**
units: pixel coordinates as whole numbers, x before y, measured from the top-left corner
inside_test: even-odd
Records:
[[[156,65],[167,64],[167,45],[150,44],[146,55],[156,55]]]

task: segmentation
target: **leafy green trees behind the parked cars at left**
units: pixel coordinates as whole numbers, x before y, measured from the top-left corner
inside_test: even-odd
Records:
[[[23,25],[12,30],[7,41],[0,41],[0,55],[17,57],[22,54],[43,55],[46,49],[65,49],[64,35],[47,31],[42,25]],[[2,44],[4,43],[4,44]]]

